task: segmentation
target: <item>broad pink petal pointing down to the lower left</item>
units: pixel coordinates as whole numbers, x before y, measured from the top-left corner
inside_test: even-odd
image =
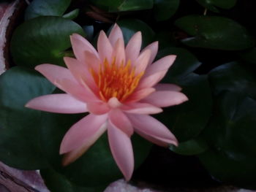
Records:
[[[75,123],[65,134],[59,150],[60,154],[68,153],[83,146],[97,134],[99,128],[106,122],[108,115],[89,114]]]

